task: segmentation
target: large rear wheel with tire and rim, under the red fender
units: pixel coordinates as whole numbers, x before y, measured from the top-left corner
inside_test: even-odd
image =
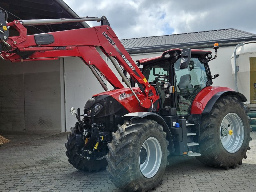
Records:
[[[243,103],[236,97],[222,96],[210,113],[202,116],[199,136],[201,156],[196,158],[214,167],[235,168],[250,150],[250,125]]]

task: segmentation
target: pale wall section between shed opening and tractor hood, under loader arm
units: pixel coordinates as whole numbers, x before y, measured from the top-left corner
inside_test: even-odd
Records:
[[[92,71],[84,62],[77,57],[64,58],[65,74],[65,114],[66,131],[77,122],[76,117],[70,113],[70,108],[81,109],[83,114],[84,105],[94,94],[104,92]]]

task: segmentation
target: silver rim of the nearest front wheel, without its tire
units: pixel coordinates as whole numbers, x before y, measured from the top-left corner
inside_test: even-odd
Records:
[[[160,168],[162,160],[162,150],[159,141],[154,137],[149,137],[140,148],[140,155],[142,155],[139,156],[141,173],[147,178],[154,177]]]

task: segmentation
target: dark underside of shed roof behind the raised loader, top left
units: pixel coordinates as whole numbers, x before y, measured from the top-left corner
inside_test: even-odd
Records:
[[[8,22],[13,20],[55,19],[79,17],[62,0],[1,0],[0,9],[7,11]],[[28,26],[28,33],[42,33],[89,27],[85,22],[58,25]]]

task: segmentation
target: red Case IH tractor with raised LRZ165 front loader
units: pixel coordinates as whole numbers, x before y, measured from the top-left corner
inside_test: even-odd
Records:
[[[124,191],[148,191],[162,182],[167,156],[195,156],[213,167],[235,168],[250,150],[246,98],[214,87],[210,51],[171,49],[137,65],[105,16],[6,23],[0,11],[0,57],[12,62],[80,57],[105,92],[90,98],[71,127],[66,155],[76,169],[108,171]],[[97,20],[101,26],[27,35],[25,26]],[[9,37],[8,27],[19,32]],[[69,37],[74,38],[69,38]],[[97,49],[96,49],[97,48]],[[98,51],[112,62],[128,88]],[[138,66],[142,66],[139,68]],[[130,79],[126,74],[130,75]],[[108,88],[102,79],[114,87]]]

